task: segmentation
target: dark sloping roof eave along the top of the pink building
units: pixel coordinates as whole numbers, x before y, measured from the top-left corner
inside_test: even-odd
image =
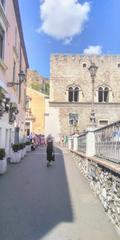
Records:
[[[18,30],[19,30],[19,34],[20,34],[21,46],[22,46],[22,49],[23,49],[25,62],[26,62],[27,68],[28,68],[29,67],[29,63],[28,63],[28,57],[27,57],[25,41],[24,41],[24,36],[23,36],[23,29],[22,29],[22,23],[21,23],[21,16],[20,16],[20,9],[19,9],[18,0],[13,0],[13,5],[14,5],[14,10],[15,10],[15,16],[16,16],[16,20],[17,20]]]

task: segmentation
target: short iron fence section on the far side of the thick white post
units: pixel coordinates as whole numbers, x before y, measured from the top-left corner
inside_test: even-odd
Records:
[[[78,151],[86,153],[86,136],[87,132],[78,136]]]

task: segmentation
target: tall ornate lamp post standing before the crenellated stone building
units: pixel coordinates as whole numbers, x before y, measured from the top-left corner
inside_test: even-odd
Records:
[[[94,83],[95,83],[97,69],[98,69],[98,67],[93,62],[91,63],[90,67],[88,68],[91,79],[92,79],[92,106],[91,106],[90,122],[93,126],[96,123],[95,111],[94,111]]]

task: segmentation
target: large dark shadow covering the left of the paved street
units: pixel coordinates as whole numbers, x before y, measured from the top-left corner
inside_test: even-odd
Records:
[[[0,177],[1,240],[40,240],[57,224],[73,220],[64,156],[59,148],[49,168],[45,148],[40,148],[20,164],[10,165],[7,174]]]

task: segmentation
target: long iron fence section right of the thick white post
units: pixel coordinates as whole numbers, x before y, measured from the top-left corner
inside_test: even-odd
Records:
[[[120,163],[120,121],[95,130],[96,156]]]

